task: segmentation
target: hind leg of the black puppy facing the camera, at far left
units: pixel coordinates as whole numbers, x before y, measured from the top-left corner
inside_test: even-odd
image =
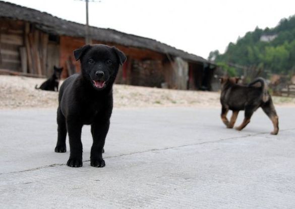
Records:
[[[57,143],[55,152],[66,152],[66,137],[67,137],[67,126],[66,119],[61,112],[60,107],[57,108]]]

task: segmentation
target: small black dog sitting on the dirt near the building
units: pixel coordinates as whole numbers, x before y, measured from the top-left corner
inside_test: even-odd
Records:
[[[58,91],[58,83],[61,79],[61,74],[63,67],[53,67],[53,74],[45,82],[43,82],[40,87],[35,86],[36,89],[47,90],[47,91]]]

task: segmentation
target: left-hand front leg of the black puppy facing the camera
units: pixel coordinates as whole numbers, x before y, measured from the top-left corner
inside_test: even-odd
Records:
[[[67,128],[70,142],[70,158],[67,165],[70,167],[82,167],[82,124],[78,120],[67,120]]]

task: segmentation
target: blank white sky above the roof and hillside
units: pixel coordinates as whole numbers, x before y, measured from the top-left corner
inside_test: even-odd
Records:
[[[85,2],[6,0],[85,24]],[[90,0],[91,1],[91,0]],[[89,24],[156,39],[207,58],[259,28],[295,14],[293,0],[101,0],[89,3]]]

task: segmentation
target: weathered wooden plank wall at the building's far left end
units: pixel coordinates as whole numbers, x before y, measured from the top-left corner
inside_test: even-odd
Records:
[[[48,34],[30,23],[0,19],[0,69],[46,75]]]

